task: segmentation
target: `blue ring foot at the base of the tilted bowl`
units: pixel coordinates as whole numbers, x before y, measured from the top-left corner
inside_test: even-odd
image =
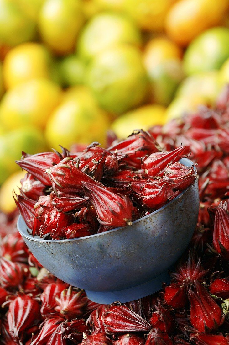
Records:
[[[151,295],[162,289],[162,283],[170,283],[170,276],[168,272],[164,272],[160,276],[146,282],[125,290],[109,291],[109,292],[97,292],[85,290],[87,297],[93,302],[101,304],[110,304],[115,301],[121,303],[130,302],[145,296]]]

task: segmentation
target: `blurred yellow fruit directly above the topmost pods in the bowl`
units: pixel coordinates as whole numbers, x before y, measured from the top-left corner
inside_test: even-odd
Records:
[[[125,138],[134,129],[147,130],[155,125],[164,125],[166,122],[165,107],[153,104],[134,109],[119,116],[112,123],[111,129],[118,138]]]

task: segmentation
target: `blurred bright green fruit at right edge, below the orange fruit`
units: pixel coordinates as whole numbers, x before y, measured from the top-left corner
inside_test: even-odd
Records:
[[[229,57],[229,29],[211,28],[193,40],[184,55],[187,75],[220,69]]]

